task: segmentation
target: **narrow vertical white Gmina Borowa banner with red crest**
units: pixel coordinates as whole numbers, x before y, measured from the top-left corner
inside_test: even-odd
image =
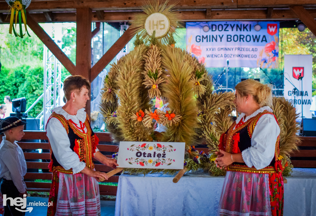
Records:
[[[305,118],[312,118],[312,65],[313,55],[284,55],[284,98]]]

